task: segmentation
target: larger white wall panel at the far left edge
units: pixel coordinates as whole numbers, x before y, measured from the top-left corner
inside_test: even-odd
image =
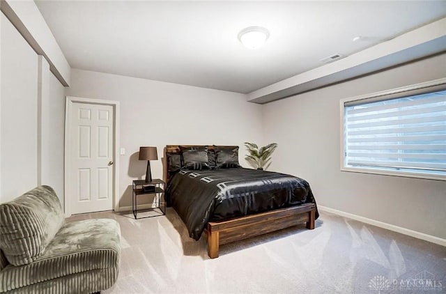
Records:
[[[37,185],[36,52],[1,13],[1,191],[9,201]]]

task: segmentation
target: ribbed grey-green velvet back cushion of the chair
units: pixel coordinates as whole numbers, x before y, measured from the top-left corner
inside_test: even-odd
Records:
[[[31,263],[64,223],[61,203],[52,187],[36,187],[0,204],[0,248],[13,265]]]

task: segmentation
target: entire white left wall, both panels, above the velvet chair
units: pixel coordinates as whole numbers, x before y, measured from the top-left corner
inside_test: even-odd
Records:
[[[3,13],[0,61],[0,203],[40,184],[63,201],[64,87]]]

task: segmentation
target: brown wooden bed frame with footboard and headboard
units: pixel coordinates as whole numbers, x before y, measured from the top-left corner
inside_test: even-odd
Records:
[[[201,147],[204,145],[187,146]],[[208,146],[208,148],[213,149],[213,146]],[[180,153],[179,145],[167,145],[164,148],[163,164],[166,183],[169,182],[167,153]],[[210,258],[217,258],[221,244],[243,240],[272,231],[279,231],[302,223],[307,223],[307,229],[312,230],[314,229],[315,214],[316,205],[314,203],[305,203],[301,206],[270,210],[219,222],[208,222],[205,229],[208,236],[208,255]]]

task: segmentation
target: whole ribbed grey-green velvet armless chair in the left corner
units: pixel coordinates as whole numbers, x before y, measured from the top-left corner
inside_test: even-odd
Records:
[[[66,222],[49,186],[0,204],[0,293],[97,293],[118,277],[114,219]]]

